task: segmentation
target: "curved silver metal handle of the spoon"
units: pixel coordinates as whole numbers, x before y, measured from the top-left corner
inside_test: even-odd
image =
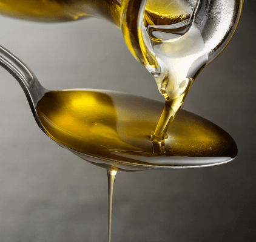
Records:
[[[25,96],[29,102],[33,116],[36,119],[39,127],[45,132],[36,113],[36,105],[38,101],[47,92],[39,83],[35,74],[22,62],[15,54],[11,53],[0,45],[0,65],[5,68],[21,85]]]

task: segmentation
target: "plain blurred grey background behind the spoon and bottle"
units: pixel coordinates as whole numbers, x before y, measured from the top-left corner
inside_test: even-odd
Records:
[[[234,162],[116,177],[112,241],[255,241],[255,1],[202,71],[183,108],[225,129]],[[100,88],[163,100],[121,31],[98,20],[39,24],[0,18],[0,44],[45,88]],[[0,69],[0,241],[107,241],[107,174],[38,128],[15,79]]]

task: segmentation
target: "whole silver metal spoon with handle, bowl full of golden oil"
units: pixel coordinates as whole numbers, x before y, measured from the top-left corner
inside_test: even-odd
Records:
[[[180,110],[170,130],[167,132],[168,137],[166,137],[165,146],[170,152],[168,154],[155,155],[152,153],[150,137],[147,136],[150,136],[150,131],[153,131],[152,127],[157,125],[164,103],[115,91],[49,91],[42,87],[27,65],[1,46],[0,65],[12,74],[21,85],[39,128],[62,148],[72,151],[78,157],[94,165],[107,169],[114,167],[116,170],[121,171],[139,171],[155,168],[198,168],[230,162],[237,156],[237,146],[226,131],[214,125],[214,123],[184,110]],[[107,119],[106,116],[104,113],[97,113],[97,110],[100,110],[100,105],[103,103],[102,97],[110,100],[109,102],[104,102],[107,108],[114,110],[116,119],[115,127],[110,127],[115,132],[116,140],[114,140],[115,142],[110,148],[106,148],[109,145],[109,137],[103,139],[101,134],[97,134],[98,136],[95,136],[95,140],[91,140],[93,146],[90,149],[86,149],[84,147],[91,145],[90,142],[83,143],[86,142],[86,139],[81,140],[82,145],[78,145],[78,148],[70,146],[70,136],[63,136],[61,131],[65,130],[65,127],[59,128],[59,131],[55,134],[52,133],[50,126],[47,124],[51,120],[46,122],[42,118],[41,111],[38,110],[45,108],[45,100],[49,99],[51,105],[47,106],[48,111],[52,113],[59,112],[56,104],[56,95],[58,96],[60,92],[63,99],[67,100],[63,105],[69,105],[70,99],[68,97],[74,92],[76,94],[80,92],[79,96],[83,97],[83,99],[90,98],[94,100],[93,106],[89,106],[89,109],[84,111],[86,120],[97,116],[104,122],[104,119]],[[64,109],[61,110],[66,112]],[[62,114],[64,113],[59,113],[60,116]],[[122,117],[126,117],[126,119],[123,120]],[[146,130],[146,134],[141,134],[138,131],[131,132],[128,136],[124,135],[126,131],[134,131],[138,128],[133,127],[130,129],[135,123],[135,126],[141,125],[141,130]],[[147,125],[144,125],[145,123]],[[145,126],[149,128],[147,129]],[[135,149],[120,148],[125,145],[130,147],[130,144],[133,144]]]

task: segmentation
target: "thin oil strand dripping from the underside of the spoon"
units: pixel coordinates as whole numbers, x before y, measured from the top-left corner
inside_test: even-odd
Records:
[[[113,201],[113,188],[117,170],[107,169],[107,180],[109,186],[109,229],[108,229],[108,242],[111,241],[111,224],[112,224],[112,201]]]

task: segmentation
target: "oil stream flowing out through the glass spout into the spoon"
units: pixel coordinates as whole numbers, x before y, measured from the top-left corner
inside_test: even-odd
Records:
[[[142,41],[156,58],[160,72],[152,72],[158,90],[166,99],[157,128],[151,134],[153,153],[166,153],[164,139],[167,129],[175,118],[183,101],[200,71],[208,61],[204,39],[194,22],[194,13],[199,1],[187,7],[190,15],[175,24],[150,25],[142,28]],[[185,2],[184,2],[185,3]],[[186,5],[186,4],[185,4]],[[184,6],[185,6],[184,5]],[[155,69],[157,70],[157,68]]]

